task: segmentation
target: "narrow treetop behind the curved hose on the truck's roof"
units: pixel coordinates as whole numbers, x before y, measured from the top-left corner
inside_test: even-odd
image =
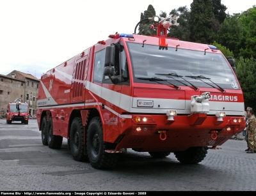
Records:
[[[155,11],[154,7],[152,6],[152,4],[149,4],[147,10],[145,10],[144,13],[141,13],[140,20],[151,18],[154,16],[156,16],[156,11]],[[145,35],[149,35],[148,33],[156,34],[156,33],[154,33],[154,31],[150,30],[150,25],[151,25],[150,20],[145,20],[145,21],[141,22],[140,27],[139,27],[139,31],[140,31],[139,34],[145,34]],[[143,29],[147,29],[147,30],[145,30],[145,32],[144,32]]]

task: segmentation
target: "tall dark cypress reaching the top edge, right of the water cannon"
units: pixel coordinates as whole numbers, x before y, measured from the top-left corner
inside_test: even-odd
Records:
[[[213,27],[212,0],[193,0],[189,20],[190,40],[211,43],[214,40]]]

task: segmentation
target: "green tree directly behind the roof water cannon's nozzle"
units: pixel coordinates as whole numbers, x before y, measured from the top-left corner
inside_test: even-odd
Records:
[[[177,10],[173,9],[170,12],[170,15],[177,15],[179,19],[180,26],[173,26],[170,28],[170,33],[168,33],[169,37],[179,38],[183,41],[189,41],[190,31],[189,31],[189,19],[190,19],[190,11],[187,6],[181,6]]]

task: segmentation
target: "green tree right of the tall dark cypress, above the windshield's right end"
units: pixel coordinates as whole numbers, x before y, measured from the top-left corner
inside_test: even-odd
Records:
[[[221,24],[221,29],[218,31],[216,40],[221,45],[225,45],[228,49],[234,52],[235,57],[239,57],[239,40],[241,34],[241,23],[239,20],[240,13],[228,15]]]

